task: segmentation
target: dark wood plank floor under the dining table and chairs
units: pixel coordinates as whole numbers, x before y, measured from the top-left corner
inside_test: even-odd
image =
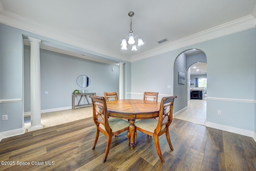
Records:
[[[92,118],[87,118],[2,139],[0,161],[9,165],[0,165],[0,170],[256,171],[256,142],[251,137],[179,119],[170,126],[174,151],[165,135],[160,137],[164,164],[154,138],[141,132],[133,150],[127,145],[126,133],[113,137],[108,159],[102,163],[107,139],[100,133],[92,150],[95,133]],[[26,164],[22,162],[30,165],[17,165]]]

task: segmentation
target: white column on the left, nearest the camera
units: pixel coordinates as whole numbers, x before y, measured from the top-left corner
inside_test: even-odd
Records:
[[[31,125],[28,131],[42,129],[41,124],[41,74],[40,43],[41,40],[28,37],[30,41],[30,107]]]

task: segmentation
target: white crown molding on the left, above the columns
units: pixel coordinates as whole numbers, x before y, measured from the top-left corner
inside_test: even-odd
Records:
[[[82,40],[76,36],[72,36],[63,30],[57,30],[49,26],[43,25],[35,20],[19,16],[13,12],[5,10],[0,1],[0,23],[19,28],[34,34],[38,34],[53,40],[64,42],[78,48],[86,50],[86,52],[102,56],[104,58],[112,59],[116,58],[118,60],[124,60],[130,62],[130,57],[123,54],[116,53],[114,50],[100,46],[98,44],[93,44],[86,40]]]

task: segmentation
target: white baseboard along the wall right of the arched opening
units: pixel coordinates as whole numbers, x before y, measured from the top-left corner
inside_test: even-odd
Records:
[[[227,125],[220,125],[218,123],[212,123],[212,122],[208,122],[208,121],[206,121],[204,125],[207,126],[207,127],[220,129],[222,131],[228,131],[228,132],[237,133],[237,134],[240,134],[240,135],[245,135],[247,137],[252,137],[254,139],[254,141],[256,142],[256,133],[254,131],[248,131],[248,130],[245,130],[245,129],[230,127],[230,126],[227,126]]]

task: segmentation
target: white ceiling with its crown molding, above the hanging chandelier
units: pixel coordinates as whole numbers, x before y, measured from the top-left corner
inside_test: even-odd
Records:
[[[129,61],[217,26],[255,20],[256,0],[0,0],[0,22],[82,49]],[[143,38],[137,51],[121,50],[130,31]],[[242,19],[241,19],[242,18]],[[233,24],[234,26],[236,24]],[[255,26],[255,24],[254,24]],[[228,26],[227,26],[228,28]],[[229,34],[229,33],[225,33]],[[159,40],[169,41],[158,44]],[[209,38],[208,38],[209,39]],[[192,44],[192,43],[190,43]],[[173,48],[169,48],[172,46]],[[167,50],[164,50],[164,48]]]

